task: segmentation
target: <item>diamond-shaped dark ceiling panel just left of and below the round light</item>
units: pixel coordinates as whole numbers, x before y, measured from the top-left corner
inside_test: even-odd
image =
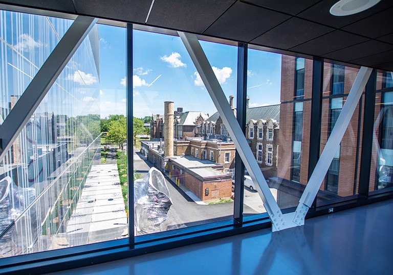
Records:
[[[251,43],[288,49],[331,31],[334,29],[293,17],[258,36]]]

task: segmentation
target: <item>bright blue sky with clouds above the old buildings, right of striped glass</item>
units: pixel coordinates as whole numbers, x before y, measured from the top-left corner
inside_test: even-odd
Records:
[[[125,114],[125,31],[99,25],[101,117]],[[236,95],[237,48],[201,45],[227,97]],[[280,55],[249,50],[250,107],[279,104],[280,70]],[[216,112],[179,37],[134,31],[133,81],[136,117],[163,114],[164,101],[183,111]]]

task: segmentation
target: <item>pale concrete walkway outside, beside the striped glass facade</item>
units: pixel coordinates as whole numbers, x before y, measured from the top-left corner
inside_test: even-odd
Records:
[[[86,240],[87,243],[113,240],[122,237],[126,229],[117,165],[93,165],[68,222],[67,239],[72,245],[84,244],[81,242]]]

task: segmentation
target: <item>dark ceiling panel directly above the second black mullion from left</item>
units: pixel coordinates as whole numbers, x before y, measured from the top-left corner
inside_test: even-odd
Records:
[[[204,34],[248,42],[289,18],[289,15],[237,2]]]

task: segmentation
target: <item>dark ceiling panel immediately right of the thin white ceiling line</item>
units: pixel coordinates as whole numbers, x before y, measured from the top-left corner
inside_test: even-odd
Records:
[[[156,0],[148,24],[202,33],[235,0]]]

